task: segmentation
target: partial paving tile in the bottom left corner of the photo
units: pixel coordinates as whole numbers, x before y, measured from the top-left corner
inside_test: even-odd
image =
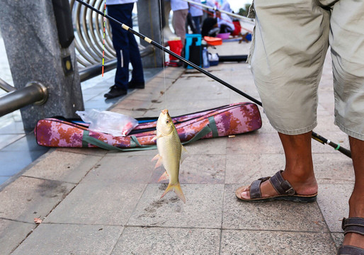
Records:
[[[0,219],[0,254],[11,254],[35,227],[34,223]]]

